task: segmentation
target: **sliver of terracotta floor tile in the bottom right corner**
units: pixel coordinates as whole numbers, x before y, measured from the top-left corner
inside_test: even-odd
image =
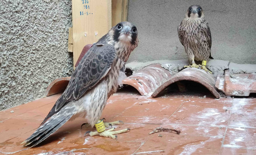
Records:
[[[234,155],[255,155],[256,150],[247,150],[247,149],[236,149],[236,148],[228,148],[228,147],[222,147],[220,151],[220,155],[228,155],[228,154],[234,154]]]

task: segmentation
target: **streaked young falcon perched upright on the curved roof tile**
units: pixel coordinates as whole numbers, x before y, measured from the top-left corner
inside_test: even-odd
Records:
[[[211,57],[212,36],[208,23],[204,20],[204,11],[199,5],[191,5],[178,26],[178,34],[181,44],[188,54],[192,65],[184,67],[196,67],[210,72],[205,66]],[[195,60],[202,61],[202,65],[196,65]]]

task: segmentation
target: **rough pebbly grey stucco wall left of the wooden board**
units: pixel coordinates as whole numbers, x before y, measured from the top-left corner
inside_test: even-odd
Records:
[[[71,0],[1,1],[0,110],[45,96],[73,69],[68,27]]]

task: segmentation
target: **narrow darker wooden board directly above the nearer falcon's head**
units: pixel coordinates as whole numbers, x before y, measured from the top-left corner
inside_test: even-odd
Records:
[[[127,20],[128,0],[112,0],[112,26]]]

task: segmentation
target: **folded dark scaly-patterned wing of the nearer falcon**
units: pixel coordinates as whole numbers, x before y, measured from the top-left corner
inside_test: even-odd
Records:
[[[116,49],[113,45],[93,45],[77,65],[66,90],[54,104],[42,124],[68,102],[78,100],[87,90],[95,86],[106,76],[115,59]]]

